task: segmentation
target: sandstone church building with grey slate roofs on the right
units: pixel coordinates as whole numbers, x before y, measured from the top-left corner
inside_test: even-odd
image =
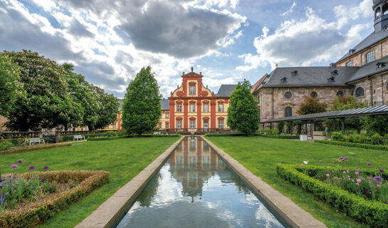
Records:
[[[251,90],[260,102],[260,121],[298,115],[304,96],[332,103],[355,95],[370,106],[388,105],[388,2],[373,0],[374,31],[327,67],[276,68]]]

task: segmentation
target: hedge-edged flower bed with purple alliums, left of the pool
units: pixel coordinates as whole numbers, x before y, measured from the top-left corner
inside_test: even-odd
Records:
[[[19,175],[17,178],[14,177],[16,175],[10,177],[6,175],[3,178],[17,179],[17,181],[14,180],[14,183],[12,183],[15,184],[14,186],[10,185],[14,187],[11,190],[16,191],[13,196],[16,196],[16,200],[19,199],[18,195],[23,195],[23,193],[24,195],[20,198],[21,202],[17,205],[18,208],[0,211],[0,227],[36,227],[38,224],[53,217],[56,212],[67,207],[68,204],[78,201],[98,187],[105,185],[109,179],[109,172],[83,170],[27,172]],[[9,179],[5,180],[9,181]],[[78,185],[77,182],[79,182]],[[38,197],[35,201],[31,200],[31,196],[36,197],[37,195],[36,193],[28,195],[28,192],[36,188],[42,193],[43,187],[41,186],[43,185],[46,185],[46,190],[52,193],[49,195],[38,195],[44,197],[41,199]],[[56,187],[63,187],[64,191],[53,191]]]

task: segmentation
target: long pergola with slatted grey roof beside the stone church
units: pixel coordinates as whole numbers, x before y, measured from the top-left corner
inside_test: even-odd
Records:
[[[365,115],[384,115],[388,114],[388,105],[382,106],[373,106],[367,108],[353,108],[347,110],[338,110],[327,113],[314,113],[308,115],[295,115],[284,118],[274,118],[270,120],[266,120],[261,122],[261,124],[266,123],[279,123],[279,122],[294,122],[294,121],[303,121],[305,124],[310,122],[310,132],[311,138],[313,138],[313,123],[318,121],[323,121],[327,119],[331,119],[334,121],[332,125],[333,131],[335,131],[335,120],[342,120],[342,134],[345,134],[345,119],[350,118],[359,118],[360,116]]]

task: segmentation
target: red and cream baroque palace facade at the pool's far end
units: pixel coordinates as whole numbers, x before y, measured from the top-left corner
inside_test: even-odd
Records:
[[[202,83],[202,73],[183,73],[182,84],[162,99],[162,116],[157,127],[161,130],[207,131],[229,130],[229,97],[236,85],[221,85],[214,94]]]

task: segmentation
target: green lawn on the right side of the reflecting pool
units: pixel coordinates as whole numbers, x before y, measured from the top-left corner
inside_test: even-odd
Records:
[[[348,166],[362,170],[363,167],[369,167],[367,162],[371,162],[372,167],[388,170],[388,152],[382,150],[255,136],[208,139],[241,162],[253,174],[320,219],[327,227],[365,227],[365,225],[357,224],[351,217],[337,212],[330,204],[321,202],[314,195],[280,178],[276,174],[276,163],[302,164],[303,160],[307,160],[308,165]],[[344,164],[338,159],[341,156],[349,157],[349,160]]]

